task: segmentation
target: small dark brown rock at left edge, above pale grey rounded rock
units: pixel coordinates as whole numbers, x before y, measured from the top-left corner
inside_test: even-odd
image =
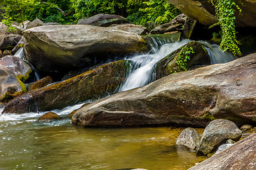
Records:
[[[21,40],[22,35],[8,34],[0,42],[1,50],[12,50]]]

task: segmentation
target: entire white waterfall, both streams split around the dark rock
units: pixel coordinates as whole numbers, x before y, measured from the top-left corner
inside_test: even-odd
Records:
[[[131,61],[131,66],[129,74],[127,74],[127,78],[119,91],[127,91],[129,89],[145,86],[151,81],[154,81],[152,72],[155,64],[166,57],[166,55],[186,45],[188,42],[191,42],[191,40],[174,42],[171,36],[151,35],[149,40],[151,52],[144,55],[135,55],[127,59]],[[206,48],[210,56],[211,64],[225,63],[236,59],[230,52],[221,52],[218,45],[210,44],[205,41],[199,42]]]

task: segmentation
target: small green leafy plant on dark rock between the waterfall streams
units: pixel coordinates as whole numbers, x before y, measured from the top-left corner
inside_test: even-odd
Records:
[[[195,53],[193,47],[183,47],[181,54],[178,55],[176,60],[179,71],[187,71],[187,62],[190,60],[190,55],[193,53]]]

